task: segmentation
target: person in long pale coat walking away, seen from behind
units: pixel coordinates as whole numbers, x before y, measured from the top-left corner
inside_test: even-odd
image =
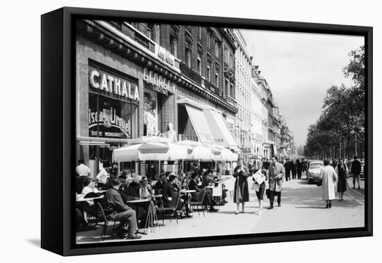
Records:
[[[321,168],[320,177],[322,177],[322,200],[326,202],[326,208],[331,208],[331,200],[335,199],[335,182],[337,174],[333,166],[329,165],[328,159],[324,160],[324,167]]]

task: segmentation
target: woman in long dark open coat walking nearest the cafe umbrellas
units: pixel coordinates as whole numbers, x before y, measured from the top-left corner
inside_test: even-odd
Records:
[[[236,178],[233,190],[233,202],[236,203],[235,214],[239,214],[240,202],[242,203],[242,213],[244,213],[244,203],[249,201],[248,176],[249,170],[247,166],[244,166],[243,159],[240,158],[238,166],[233,170],[233,177]]]

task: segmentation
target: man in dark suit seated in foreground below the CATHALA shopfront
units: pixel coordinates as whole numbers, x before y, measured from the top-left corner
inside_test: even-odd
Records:
[[[115,233],[118,237],[124,237],[126,230],[124,224],[128,224],[127,238],[128,239],[140,239],[139,234],[135,234],[138,230],[137,217],[135,211],[125,205],[121,195],[118,192],[119,186],[121,186],[121,180],[116,178],[112,182],[112,188],[108,189],[105,196],[102,199],[102,207],[108,220],[119,221],[118,228]]]

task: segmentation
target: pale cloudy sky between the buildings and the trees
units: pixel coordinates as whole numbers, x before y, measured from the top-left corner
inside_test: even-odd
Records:
[[[254,65],[267,79],[276,104],[294,133],[294,141],[305,145],[308,126],[315,123],[326,90],[351,79],[342,68],[349,52],[364,45],[364,38],[350,35],[240,30]]]

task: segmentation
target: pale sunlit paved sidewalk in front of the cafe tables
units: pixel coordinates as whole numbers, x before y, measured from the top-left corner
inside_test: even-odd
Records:
[[[348,181],[352,186],[351,179]],[[219,207],[219,212],[206,212],[206,217],[202,213],[198,216],[197,212],[194,212],[193,218],[179,219],[178,225],[176,220],[170,223],[167,219],[165,226],[143,235],[141,240],[361,227],[365,222],[363,180],[361,188],[349,189],[344,194],[344,201],[334,200],[333,207],[325,209],[320,187],[306,184],[305,179],[292,180],[284,183],[281,207],[267,210],[269,200],[264,195],[264,210],[260,216],[254,214],[258,209],[256,194],[249,190],[250,202],[246,203],[244,214],[235,214],[236,206],[228,196],[229,203]],[[337,193],[336,197],[338,198]],[[124,241],[113,239],[110,235],[112,228],[109,227],[105,242]],[[79,232],[77,241],[99,242],[100,233],[101,227],[90,232]]]

